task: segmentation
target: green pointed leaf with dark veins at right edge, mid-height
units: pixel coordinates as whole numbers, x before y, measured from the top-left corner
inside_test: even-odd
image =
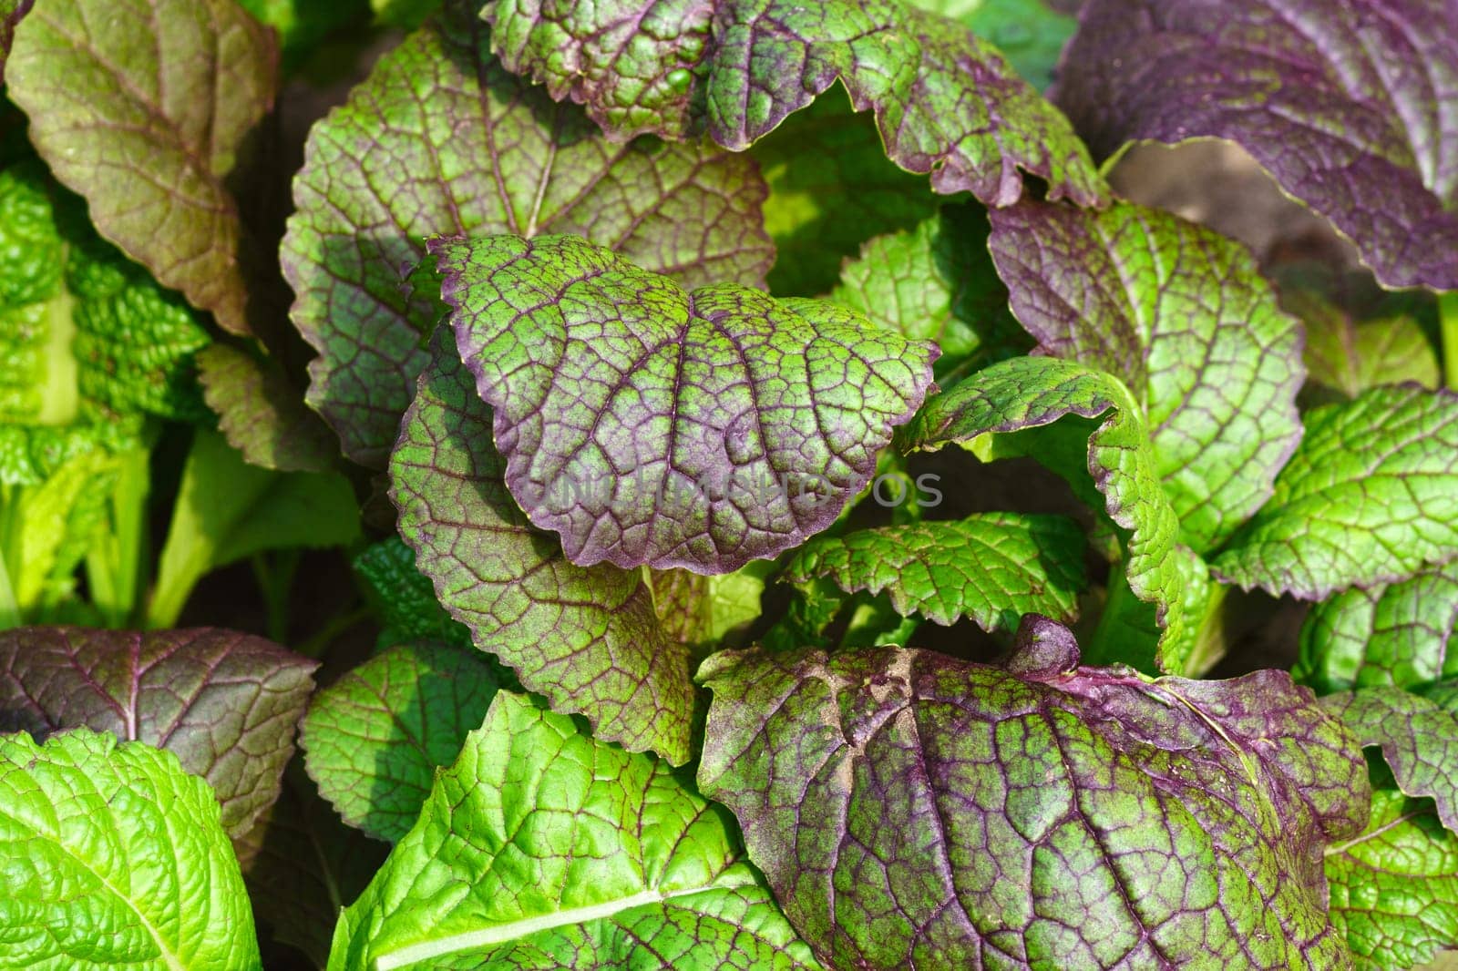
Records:
[[[1242,588],[1324,599],[1458,557],[1458,394],[1411,385],[1306,413],[1276,493],[1212,563]]]

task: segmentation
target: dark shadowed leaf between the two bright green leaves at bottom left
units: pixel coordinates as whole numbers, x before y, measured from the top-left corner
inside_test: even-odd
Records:
[[[283,793],[245,835],[233,840],[260,924],[324,968],[340,911],[353,904],[389,847],[347,827],[319,798],[297,761]]]

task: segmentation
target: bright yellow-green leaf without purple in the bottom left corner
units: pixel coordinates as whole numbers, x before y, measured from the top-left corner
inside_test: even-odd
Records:
[[[261,968],[238,860],[171,752],[85,729],[0,736],[0,965]]]

